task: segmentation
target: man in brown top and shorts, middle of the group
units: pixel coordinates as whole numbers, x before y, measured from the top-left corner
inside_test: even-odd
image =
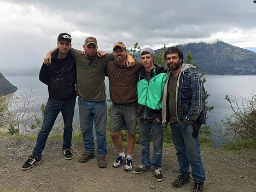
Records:
[[[114,60],[107,65],[106,75],[109,79],[110,99],[113,102],[110,113],[110,135],[118,149],[118,158],[113,167],[125,164],[124,170],[132,170],[132,151],[136,141],[137,123],[137,73],[142,63],[136,61],[134,67],[127,67],[127,51],[124,43],[113,45]],[[128,131],[128,152],[125,156],[123,142],[119,131]]]

